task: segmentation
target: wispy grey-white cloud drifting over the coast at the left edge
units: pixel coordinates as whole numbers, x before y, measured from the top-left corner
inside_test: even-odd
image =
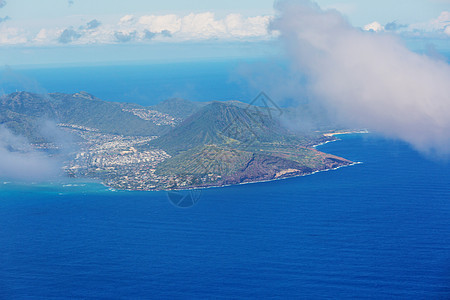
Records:
[[[42,100],[51,100],[46,90],[34,78],[23,76],[8,66],[1,72],[0,86],[27,90],[42,95],[39,96]],[[64,176],[63,161],[72,157],[78,150],[74,136],[59,128],[52,120],[55,116],[48,113],[48,110],[39,109],[39,103],[42,102],[36,100],[37,98],[30,98],[26,93],[0,96],[0,110],[2,113],[6,112],[3,114],[3,124],[0,124],[0,178],[2,179],[45,181]],[[14,105],[17,101],[25,104],[18,107]],[[21,116],[24,107],[25,110],[33,113],[27,117]],[[30,107],[36,109],[29,109]],[[16,126],[17,121],[23,124]],[[36,149],[30,142],[46,142],[53,145],[54,149],[50,154],[48,151]]]

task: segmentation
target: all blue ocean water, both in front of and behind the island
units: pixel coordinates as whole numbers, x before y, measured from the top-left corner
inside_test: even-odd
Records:
[[[35,89],[146,105],[253,96],[231,68],[14,72]],[[0,298],[449,299],[450,164],[373,134],[339,139],[318,149],[361,164],[205,189],[185,209],[165,192],[0,182]]]

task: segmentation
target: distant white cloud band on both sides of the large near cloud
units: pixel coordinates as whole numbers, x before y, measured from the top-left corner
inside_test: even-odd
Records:
[[[334,11],[337,13],[336,11]],[[187,15],[131,15],[127,14],[118,19],[93,19],[92,16],[70,19],[64,26],[22,28],[21,24],[12,21],[0,24],[0,44],[24,45],[56,45],[68,28],[73,29],[76,38],[67,39],[68,43],[82,44],[114,44],[120,42],[154,43],[161,41],[181,42],[189,40],[267,40],[278,36],[269,30],[269,24],[274,16],[244,17],[232,13],[218,18],[213,12],[191,13]],[[86,24],[86,19],[95,21]],[[91,22],[93,22],[91,21]],[[101,26],[98,26],[100,25]],[[364,30],[391,33],[401,33],[415,36],[444,36],[448,37],[450,12],[444,11],[436,19],[429,22],[403,25],[391,22],[383,26],[379,22],[372,22],[364,26]],[[393,26],[397,25],[397,26]],[[118,34],[119,33],[119,34]],[[133,38],[122,38],[120,35],[133,35]],[[117,38],[119,36],[119,38]],[[151,37],[151,38],[149,38]]]

